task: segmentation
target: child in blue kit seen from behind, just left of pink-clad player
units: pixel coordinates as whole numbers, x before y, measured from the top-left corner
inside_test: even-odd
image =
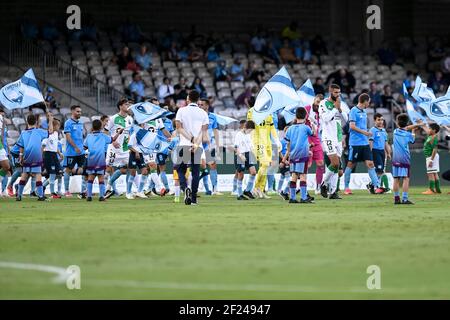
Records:
[[[291,182],[289,185],[289,203],[299,203],[296,197],[297,180],[300,179],[300,203],[313,203],[308,198],[306,174],[308,173],[309,142],[308,137],[315,134],[315,126],[311,128],[305,124],[306,109],[297,108],[295,110],[295,122],[286,131],[285,140],[287,141],[286,154],[283,162],[289,160],[289,171],[291,172]]]

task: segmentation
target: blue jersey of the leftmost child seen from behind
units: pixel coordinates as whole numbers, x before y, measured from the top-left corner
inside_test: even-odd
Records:
[[[26,129],[20,134],[17,145],[23,148],[23,166],[42,166],[42,140],[48,138],[48,131],[40,128]]]

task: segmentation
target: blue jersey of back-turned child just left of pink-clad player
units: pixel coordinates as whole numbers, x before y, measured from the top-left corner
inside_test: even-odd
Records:
[[[286,131],[286,141],[290,142],[289,161],[305,162],[309,157],[308,136],[312,135],[311,128],[303,123],[294,124]]]

